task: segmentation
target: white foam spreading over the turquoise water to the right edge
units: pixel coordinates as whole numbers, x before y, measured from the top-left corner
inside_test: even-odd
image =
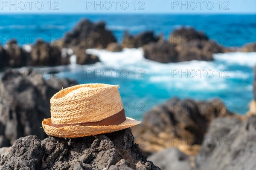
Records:
[[[180,63],[158,63],[143,57],[143,49],[123,49],[122,52],[109,52],[87,49],[86,53],[99,56],[97,68],[127,69],[132,72],[142,69],[144,80],[152,84],[163,84],[168,89],[189,91],[216,91],[229,88],[229,78],[247,79],[249,74],[230,71],[229,65],[255,66],[256,53],[226,53],[215,55],[216,61],[186,61]],[[254,58],[253,58],[254,57]],[[221,62],[220,62],[221,61]]]

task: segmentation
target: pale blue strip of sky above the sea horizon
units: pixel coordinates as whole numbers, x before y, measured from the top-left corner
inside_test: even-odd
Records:
[[[0,0],[0,13],[256,14],[256,0]]]

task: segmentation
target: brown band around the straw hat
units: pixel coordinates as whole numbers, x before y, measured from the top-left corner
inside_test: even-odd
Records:
[[[120,112],[102,119],[101,121],[93,121],[93,122],[85,122],[85,123],[77,123],[77,124],[54,124],[53,127],[65,127],[65,126],[115,126],[119,125],[126,120],[125,110],[122,109]]]

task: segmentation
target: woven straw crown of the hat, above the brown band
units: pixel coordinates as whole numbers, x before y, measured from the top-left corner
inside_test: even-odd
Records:
[[[54,124],[96,122],[123,109],[118,86],[81,84],[57,92],[50,100]]]

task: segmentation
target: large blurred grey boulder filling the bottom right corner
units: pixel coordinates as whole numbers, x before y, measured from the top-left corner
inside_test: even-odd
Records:
[[[236,118],[215,119],[195,163],[199,170],[255,170],[256,116],[242,122]]]

